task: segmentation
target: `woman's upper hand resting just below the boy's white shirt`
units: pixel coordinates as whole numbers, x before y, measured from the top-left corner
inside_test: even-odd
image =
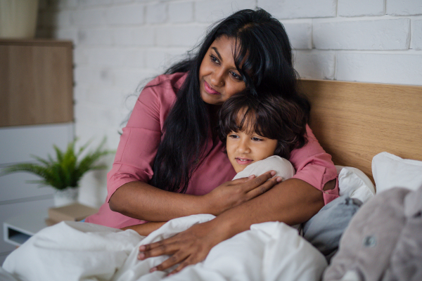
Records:
[[[219,185],[210,193],[203,195],[204,205],[209,207],[206,213],[218,216],[228,209],[262,195],[282,181],[279,176],[272,178],[275,174],[275,171],[267,171],[261,176],[252,175]]]

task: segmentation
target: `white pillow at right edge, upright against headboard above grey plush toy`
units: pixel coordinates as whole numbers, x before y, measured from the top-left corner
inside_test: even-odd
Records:
[[[422,162],[381,152],[372,159],[372,175],[377,192],[390,188],[417,190],[422,185]]]

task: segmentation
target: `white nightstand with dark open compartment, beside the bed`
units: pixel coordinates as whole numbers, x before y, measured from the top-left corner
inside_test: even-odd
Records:
[[[8,218],[3,223],[4,241],[20,246],[39,230],[46,228],[47,209]]]

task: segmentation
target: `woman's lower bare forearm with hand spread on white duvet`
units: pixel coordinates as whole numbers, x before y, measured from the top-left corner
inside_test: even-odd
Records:
[[[139,259],[169,254],[154,270],[165,270],[174,264],[172,271],[203,261],[210,249],[234,235],[248,230],[254,223],[282,221],[289,225],[302,223],[324,206],[322,192],[305,181],[291,178],[279,183],[261,196],[224,211],[207,223],[200,223],[167,240],[139,248]]]

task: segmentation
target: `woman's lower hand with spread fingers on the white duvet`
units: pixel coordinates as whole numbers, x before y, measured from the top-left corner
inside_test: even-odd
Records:
[[[150,272],[165,270],[180,263],[170,275],[178,273],[186,266],[205,260],[212,247],[228,238],[224,237],[224,232],[219,231],[221,229],[219,229],[219,226],[215,226],[213,221],[196,224],[168,239],[142,245],[139,247],[138,259],[170,255],[169,259],[150,270]]]

